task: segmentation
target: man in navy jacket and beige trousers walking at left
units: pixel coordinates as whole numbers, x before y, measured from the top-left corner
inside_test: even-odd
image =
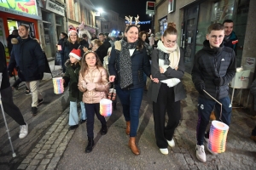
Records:
[[[11,76],[16,65],[20,80],[26,82],[32,92],[32,115],[35,116],[38,113],[38,104],[43,102],[42,95],[38,90],[38,81],[44,77],[44,52],[39,43],[28,36],[27,26],[19,26],[18,33],[20,37],[16,39],[16,42],[14,41],[10,55],[9,73]]]

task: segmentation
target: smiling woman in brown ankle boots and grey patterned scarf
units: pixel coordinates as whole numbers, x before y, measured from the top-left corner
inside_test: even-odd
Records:
[[[143,72],[149,77],[150,64],[143,40],[138,37],[136,25],[125,29],[125,37],[116,41],[108,63],[109,82],[115,87],[123,106],[126,134],[130,134],[129,146],[135,155],[140,152],[135,144],[139,122],[139,110],[143,99]],[[131,126],[130,126],[131,122]]]

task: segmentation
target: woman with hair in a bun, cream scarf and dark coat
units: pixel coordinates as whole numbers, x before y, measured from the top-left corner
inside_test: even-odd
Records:
[[[180,100],[186,98],[181,78],[185,67],[183,55],[177,45],[177,30],[169,23],[166,31],[152,53],[152,82],[148,95],[153,100],[154,133],[156,144],[162,154],[168,154],[168,145],[175,146],[173,134],[181,118]],[[168,122],[166,122],[166,112]]]

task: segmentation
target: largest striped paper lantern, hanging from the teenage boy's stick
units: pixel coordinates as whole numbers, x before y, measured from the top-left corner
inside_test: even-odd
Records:
[[[212,121],[208,142],[208,148],[212,152],[222,153],[225,151],[229,128],[224,122]]]

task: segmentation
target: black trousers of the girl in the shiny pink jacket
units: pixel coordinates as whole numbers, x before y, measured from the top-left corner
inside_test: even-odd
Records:
[[[88,138],[94,138],[93,135],[93,127],[94,127],[94,115],[96,114],[98,120],[102,123],[102,126],[107,125],[105,117],[100,114],[100,104],[84,104],[85,105],[85,112],[87,115],[87,136]]]

